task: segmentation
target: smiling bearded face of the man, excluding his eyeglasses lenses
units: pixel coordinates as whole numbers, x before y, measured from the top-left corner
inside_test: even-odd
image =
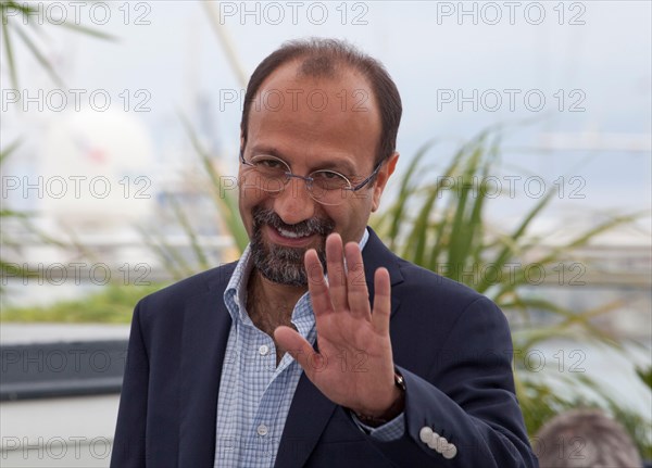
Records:
[[[297,75],[296,63],[288,63],[263,81],[251,104],[243,156],[276,156],[299,176],[331,169],[354,186],[374,170],[380,129],[372,89],[358,73],[305,77]],[[338,205],[315,201],[300,178],[291,178],[279,193],[268,193],[260,189],[260,174],[241,164],[239,207],[254,266],[272,281],[305,286],[305,251],[316,249],[324,261],[330,232],[344,242],[360,241],[397,159],[383,164],[375,182],[338,192]]]

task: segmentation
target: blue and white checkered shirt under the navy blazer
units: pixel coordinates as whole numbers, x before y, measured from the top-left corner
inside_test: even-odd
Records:
[[[367,239],[365,230],[361,249]],[[224,292],[224,303],[233,324],[217,399],[215,467],[274,466],[285,421],[303,372],[287,353],[276,366],[274,341],[249,318],[246,304],[251,268],[248,246]],[[291,320],[299,333],[314,345],[315,316],[308,292],[294,305]],[[402,414],[379,428],[365,426],[354,416],[353,420],[361,430],[380,441],[396,440],[404,433]]]

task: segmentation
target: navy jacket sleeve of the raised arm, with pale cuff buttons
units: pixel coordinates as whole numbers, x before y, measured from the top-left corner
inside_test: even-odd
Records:
[[[369,437],[374,445],[397,466],[538,467],[514,392],[502,312],[478,299],[457,317],[443,345],[423,350],[436,355],[427,376],[398,366],[406,389],[403,435],[390,442]],[[454,448],[429,446],[422,431]]]

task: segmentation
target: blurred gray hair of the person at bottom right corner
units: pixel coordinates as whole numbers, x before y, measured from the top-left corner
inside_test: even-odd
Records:
[[[623,426],[599,409],[555,416],[532,440],[539,468],[640,468],[642,460]]]

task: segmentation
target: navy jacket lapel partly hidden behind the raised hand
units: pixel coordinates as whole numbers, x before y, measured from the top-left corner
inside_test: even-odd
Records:
[[[397,256],[393,255],[371,229],[369,238],[362,252],[369,299],[374,298],[374,271],[380,266],[389,270],[392,286],[403,281]],[[392,315],[399,301],[392,295]],[[326,429],[336,404],[312,384],[305,374],[301,375],[290,412],[285,423],[280,445],[276,455],[276,467],[303,466]]]

